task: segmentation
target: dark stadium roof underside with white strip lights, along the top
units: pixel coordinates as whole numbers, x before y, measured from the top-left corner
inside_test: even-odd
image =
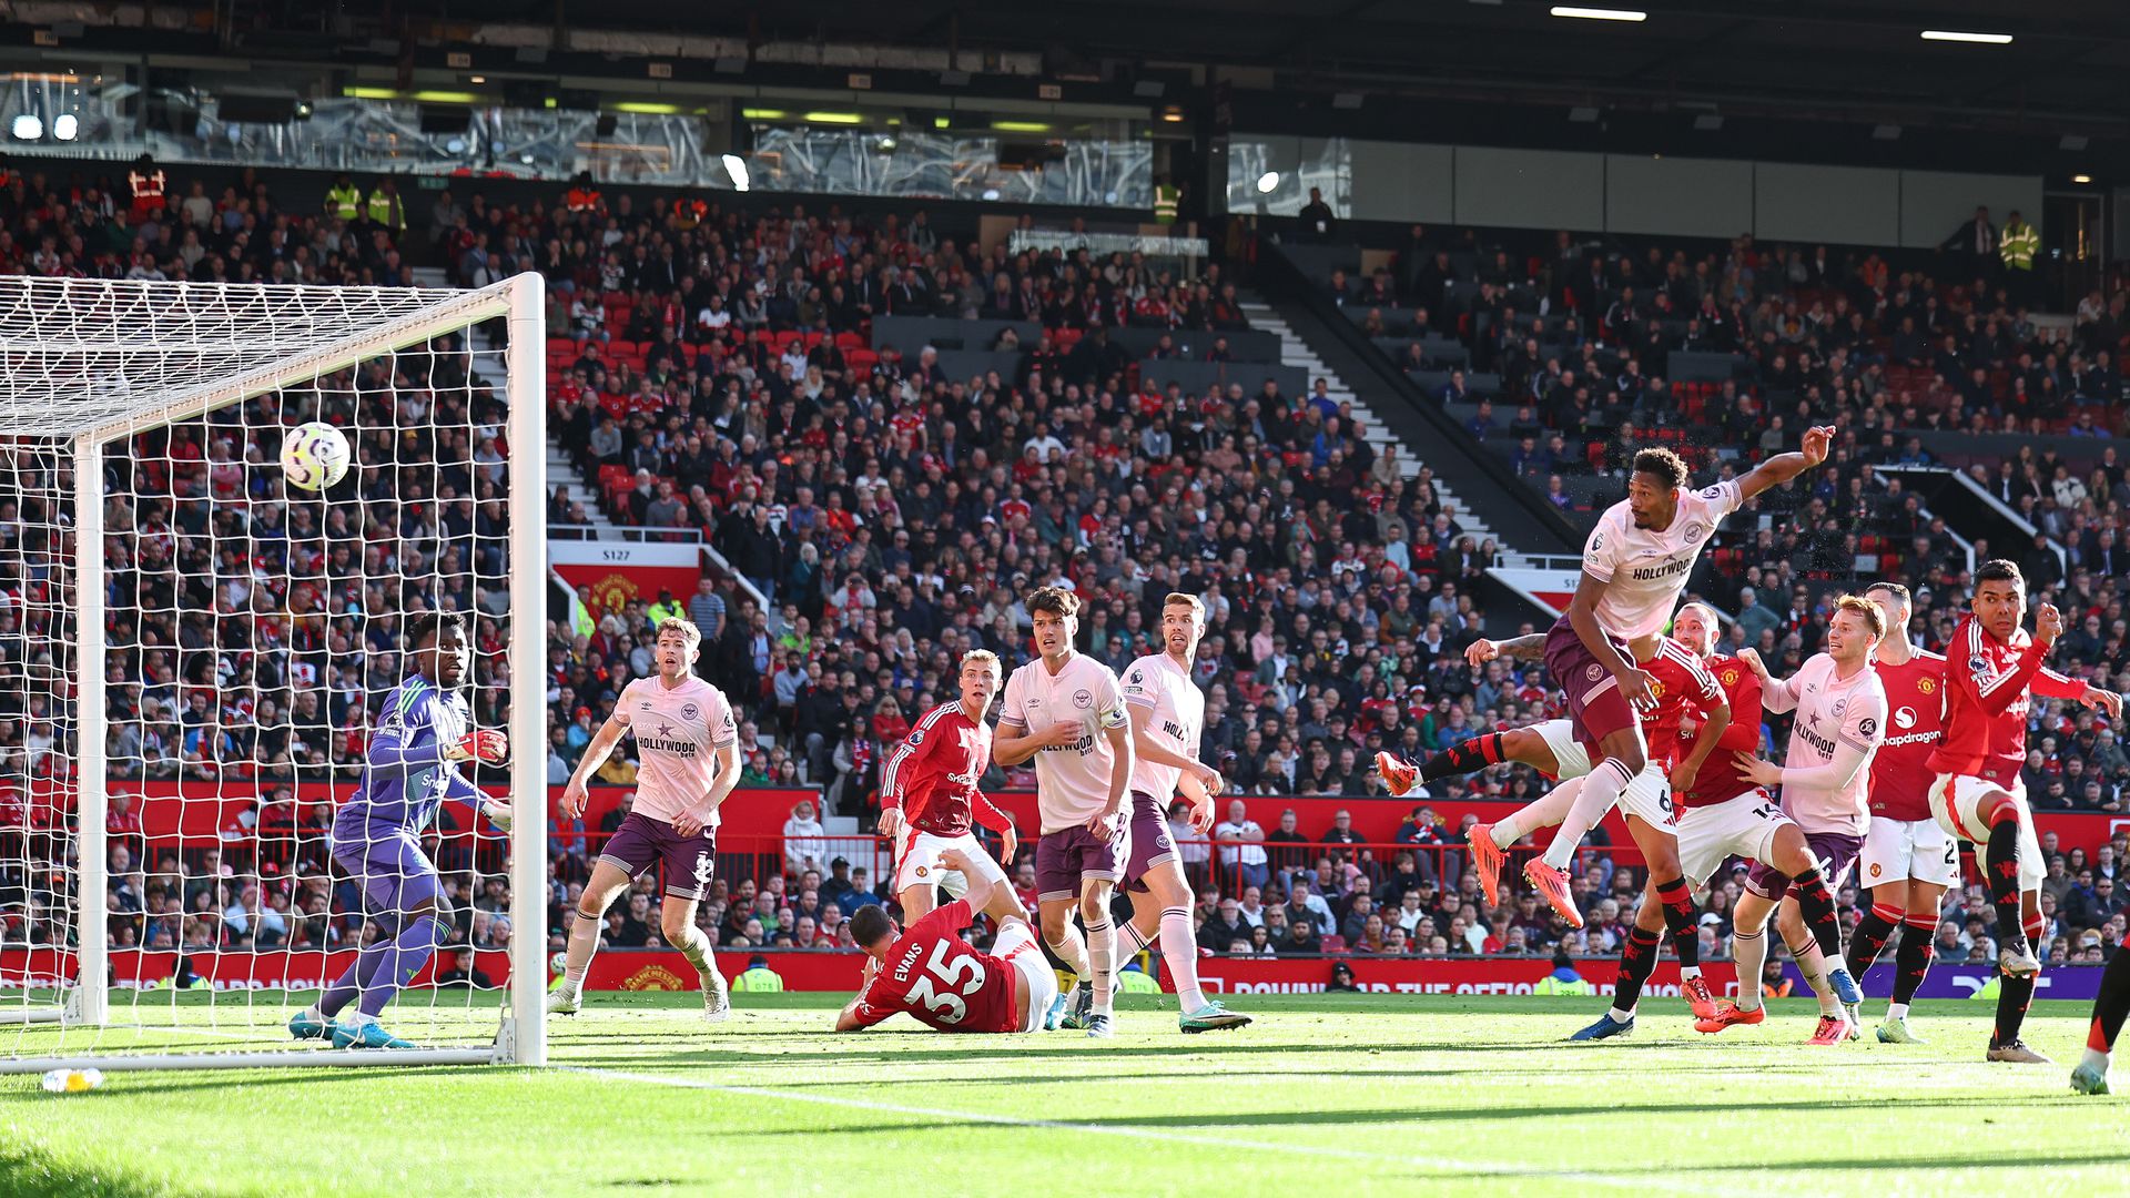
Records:
[[[1551,0],[409,0],[452,21],[547,21],[763,41],[1042,49],[1065,62],[1308,70],[1329,83],[1510,98],[1674,100],[2062,113],[2130,122],[2119,0],[1585,0],[1642,21],[1555,17]],[[2009,45],[1926,30],[2011,34]]]

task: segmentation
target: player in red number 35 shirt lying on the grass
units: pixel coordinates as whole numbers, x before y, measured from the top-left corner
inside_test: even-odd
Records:
[[[961,848],[944,848],[939,863],[969,878],[969,891],[907,932],[880,906],[850,917],[850,936],[869,959],[858,995],[835,1017],[837,1032],[863,1032],[895,1013],[937,1032],[1044,1030],[1059,981],[1012,887],[993,883]],[[999,927],[990,953],[961,938],[978,910]]]

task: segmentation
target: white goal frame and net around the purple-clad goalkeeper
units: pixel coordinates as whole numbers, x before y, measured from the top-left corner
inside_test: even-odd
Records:
[[[543,345],[537,275],[0,277],[0,1072],[543,1062]],[[354,450],[324,490],[307,422]],[[298,1040],[405,923],[332,829],[426,612],[511,742],[460,772],[524,819],[420,831],[441,944],[377,1015],[413,1049]]]

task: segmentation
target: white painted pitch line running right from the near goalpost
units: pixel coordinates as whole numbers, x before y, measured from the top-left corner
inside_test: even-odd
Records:
[[[1502,1175],[1502,1177],[1553,1177],[1559,1181],[1583,1181],[1589,1185],[1610,1185],[1615,1189],[1659,1189],[1666,1194],[1695,1194],[1706,1196],[1706,1185],[1685,1185],[1676,1181],[1666,1181],[1661,1177],[1612,1177],[1604,1172],[1578,1172],[1559,1170],[1531,1164],[1489,1164],[1472,1160],[1451,1160],[1451,1157],[1423,1157],[1423,1155],[1402,1155],[1402,1153],[1372,1153],[1361,1149],[1338,1149],[1327,1145],[1295,1145],[1284,1140],[1244,1140],[1235,1136],[1199,1136],[1191,1132],[1161,1132],[1154,1128],[1129,1128],[1110,1123],[1069,1123],[1063,1119],[1022,1119],[1018,1115],[995,1115],[988,1111],[946,1111],[939,1106],[907,1106],[901,1102],[873,1102],[869,1098],[837,1098],[833,1094],[794,1094],[790,1089],[775,1089],[767,1085],[720,1085],[716,1081],[697,1081],[688,1076],[665,1076],[652,1072],[633,1070],[607,1070],[592,1066],[556,1066],[562,1072],[581,1072],[590,1076],[605,1076],[613,1081],[639,1081],[650,1085],[671,1085],[675,1089],[707,1089],[716,1094],[737,1094],[743,1098],[782,1098],[786,1102],[812,1102],[816,1106],[841,1106],[848,1111],[880,1111],[888,1115],[922,1115],[927,1119],[941,1119],[950,1123],[999,1123],[1007,1128],[1044,1128],[1056,1132],[1088,1132],[1097,1136],[1125,1136],[1131,1140],[1159,1140],[1167,1145],[1199,1145],[1214,1149],[1248,1149],[1265,1153],[1287,1153],[1287,1155],[1310,1155],[1310,1157],[1333,1157],[1333,1160],[1365,1160],[1378,1164],[1404,1164],[1414,1168],[1431,1168],[1436,1172],[1480,1172],[1480,1175]],[[1338,1111],[1325,1113],[1327,1123],[1338,1121]]]

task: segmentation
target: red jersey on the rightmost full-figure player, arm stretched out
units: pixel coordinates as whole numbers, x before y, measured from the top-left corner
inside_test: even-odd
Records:
[[[2043,669],[2047,650],[2017,629],[2000,642],[1964,616],[1945,646],[1945,735],[1930,755],[1936,774],[1970,774],[2000,787],[2026,765],[2026,714],[2032,697],[2077,699],[2085,684]]]

